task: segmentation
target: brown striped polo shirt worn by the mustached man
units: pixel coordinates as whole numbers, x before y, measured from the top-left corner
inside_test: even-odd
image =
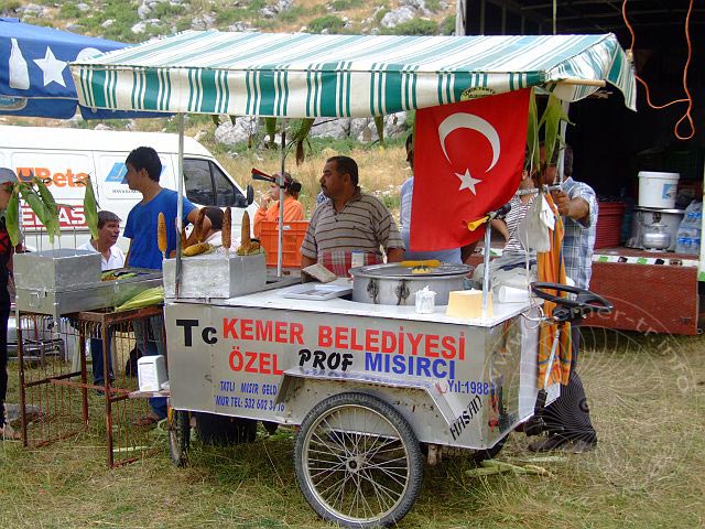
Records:
[[[381,256],[379,247],[404,249],[397,224],[384,205],[358,187],[341,212],[330,198],[313,212],[301,253],[317,259],[324,251],[364,250]]]

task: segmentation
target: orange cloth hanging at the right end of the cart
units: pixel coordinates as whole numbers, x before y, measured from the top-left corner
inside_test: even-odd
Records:
[[[536,256],[539,281],[566,284],[565,264],[563,263],[562,253],[563,219],[561,218],[561,215],[558,215],[558,210],[553,203],[553,198],[551,197],[551,195],[546,194],[544,196],[546,202],[551,206],[553,214],[555,215],[555,226],[554,229],[549,230],[549,235],[551,238],[551,249],[549,251],[538,253]],[[555,291],[549,292],[553,293],[554,295],[556,294]],[[550,316],[553,313],[553,309],[555,306],[555,303],[544,301],[543,312],[547,316]],[[539,334],[539,388],[543,388],[543,379],[549,367],[551,347],[553,346],[553,338],[555,337],[556,331],[556,324],[544,323],[541,326],[541,332]],[[571,324],[565,323],[563,324],[563,328],[561,330],[561,341],[556,350],[555,358],[553,359],[553,367],[551,369],[551,375],[549,376],[549,386],[555,382],[561,382],[564,386],[568,384],[572,357]]]

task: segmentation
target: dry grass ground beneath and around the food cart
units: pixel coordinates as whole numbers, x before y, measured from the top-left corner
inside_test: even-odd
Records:
[[[587,332],[581,369],[598,449],[542,464],[553,477],[470,478],[467,453],[425,468],[400,527],[693,528],[705,523],[702,337]],[[9,401],[17,402],[11,373]],[[286,432],[253,444],[196,445],[176,468],[160,451],[108,471],[100,402],[89,430],[26,450],[0,444],[0,527],[327,527],[299,492]],[[530,456],[512,434],[499,458]]]

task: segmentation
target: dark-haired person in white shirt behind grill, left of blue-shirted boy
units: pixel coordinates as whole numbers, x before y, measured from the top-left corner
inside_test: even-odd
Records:
[[[120,217],[112,212],[98,212],[98,239],[90,239],[78,250],[88,250],[100,253],[100,269],[115,270],[124,267],[124,253],[116,246],[120,237]],[[108,341],[112,342],[112,332],[108,333]],[[112,380],[112,366],[110,365],[110,350],[108,350],[108,371]],[[102,339],[90,338],[90,358],[93,364],[93,384],[105,385],[102,367]]]

